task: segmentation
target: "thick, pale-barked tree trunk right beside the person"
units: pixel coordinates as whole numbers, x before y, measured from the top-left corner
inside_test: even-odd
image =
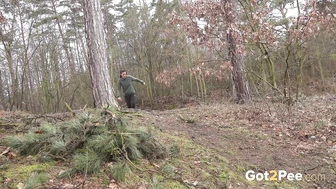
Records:
[[[83,0],[88,65],[95,107],[119,107],[114,95],[107,62],[103,14],[99,0]]]

